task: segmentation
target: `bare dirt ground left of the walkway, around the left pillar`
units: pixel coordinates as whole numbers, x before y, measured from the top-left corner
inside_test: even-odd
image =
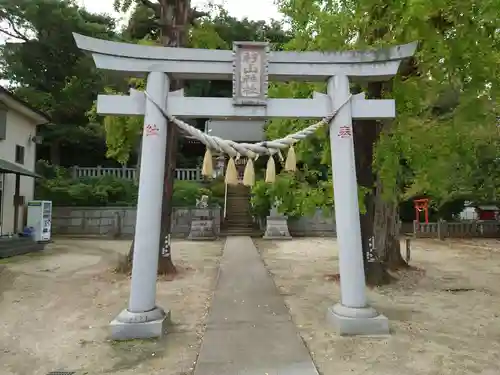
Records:
[[[190,374],[215,287],[222,242],[173,242],[174,281],[158,282],[172,325],[159,341],[113,342],[109,322],[130,280],[112,268],[126,241],[56,240],[44,253],[0,261],[0,373]]]

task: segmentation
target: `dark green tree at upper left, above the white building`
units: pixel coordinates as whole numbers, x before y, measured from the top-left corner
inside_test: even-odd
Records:
[[[90,14],[69,0],[0,0],[0,32],[11,42],[1,46],[1,78],[51,117],[52,123],[40,128],[46,144],[83,142],[94,149],[102,144],[103,133],[87,126],[86,112],[109,82],[78,49],[72,33],[111,39],[114,27],[112,18]],[[59,157],[58,151],[52,155]]]

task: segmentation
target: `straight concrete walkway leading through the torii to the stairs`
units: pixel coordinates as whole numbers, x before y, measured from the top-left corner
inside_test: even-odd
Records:
[[[318,375],[250,237],[228,237],[194,375]]]

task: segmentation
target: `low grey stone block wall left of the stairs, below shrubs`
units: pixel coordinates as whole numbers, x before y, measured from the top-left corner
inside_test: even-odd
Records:
[[[172,235],[189,234],[193,209],[175,208],[172,217]],[[215,218],[215,232],[220,233],[221,209],[211,209]],[[54,207],[52,234],[101,235],[132,237],[135,227],[135,207]]]

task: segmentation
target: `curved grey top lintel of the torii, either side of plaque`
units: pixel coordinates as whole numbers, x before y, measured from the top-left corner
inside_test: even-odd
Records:
[[[143,75],[161,71],[176,79],[233,79],[233,51],[153,47],[111,42],[73,34],[82,50],[92,53],[97,68]],[[237,44],[237,43],[236,43]],[[335,75],[352,80],[385,81],[411,57],[417,42],[371,51],[269,52],[272,81],[324,81]]]

